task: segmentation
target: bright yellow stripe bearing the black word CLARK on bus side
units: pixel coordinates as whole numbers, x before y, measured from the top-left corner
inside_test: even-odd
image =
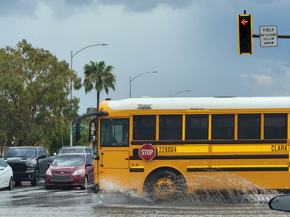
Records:
[[[213,146],[212,152],[278,152],[289,151],[288,145]]]

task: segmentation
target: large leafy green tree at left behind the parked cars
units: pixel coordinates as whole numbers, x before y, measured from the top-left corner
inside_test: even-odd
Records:
[[[81,78],[48,50],[25,39],[0,49],[0,141],[14,145],[52,144],[56,132],[75,120],[79,98],[68,100],[70,80]]]

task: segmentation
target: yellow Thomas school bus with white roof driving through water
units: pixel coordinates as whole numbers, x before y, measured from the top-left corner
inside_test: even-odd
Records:
[[[95,191],[168,199],[181,191],[290,187],[290,97],[142,97],[99,107],[76,123],[78,140],[80,119],[96,116]],[[154,146],[153,159],[140,157],[144,144]]]

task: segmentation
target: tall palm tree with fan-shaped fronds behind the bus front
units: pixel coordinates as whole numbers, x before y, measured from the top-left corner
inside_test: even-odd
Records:
[[[97,91],[97,111],[99,111],[100,93],[105,91],[109,93],[109,89],[115,91],[116,75],[113,72],[113,66],[106,66],[106,62],[93,62],[84,66],[84,87],[85,93],[91,92],[93,89]]]

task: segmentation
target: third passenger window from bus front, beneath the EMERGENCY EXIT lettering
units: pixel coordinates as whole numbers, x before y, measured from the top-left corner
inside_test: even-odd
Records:
[[[209,139],[209,115],[185,115],[185,139]]]

